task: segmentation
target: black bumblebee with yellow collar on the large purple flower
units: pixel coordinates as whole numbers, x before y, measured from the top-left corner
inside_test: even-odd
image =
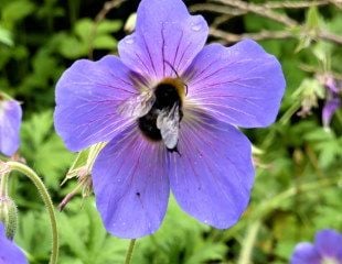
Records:
[[[165,78],[153,89],[128,99],[119,112],[137,119],[142,134],[151,141],[163,141],[169,152],[178,152],[182,100],[186,86],[180,78]]]

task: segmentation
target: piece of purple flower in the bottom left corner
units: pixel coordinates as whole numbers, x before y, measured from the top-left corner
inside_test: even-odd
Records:
[[[25,255],[4,234],[3,224],[0,222],[0,264],[24,264],[28,263]]]

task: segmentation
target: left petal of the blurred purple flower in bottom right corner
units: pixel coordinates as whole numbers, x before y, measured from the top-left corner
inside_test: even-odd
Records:
[[[320,260],[316,248],[308,242],[303,242],[296,245],[291,256],[291,264],[320,264]]]

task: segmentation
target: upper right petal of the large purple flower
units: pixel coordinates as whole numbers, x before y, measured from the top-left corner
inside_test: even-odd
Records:
[[[232,47],[207,45],[184,78],[193,103],[243,128],[274,122],[285,89],[278,61],[250,40]]]

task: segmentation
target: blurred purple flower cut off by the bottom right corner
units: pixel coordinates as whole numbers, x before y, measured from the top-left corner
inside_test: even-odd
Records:
[[[342,264],[342,234],[325,229],[316,234],[314,244],[297,244],[291,264]]]

